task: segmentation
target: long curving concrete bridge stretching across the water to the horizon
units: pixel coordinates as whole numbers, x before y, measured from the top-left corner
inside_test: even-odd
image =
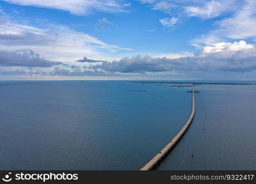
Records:
[[[176,136],[171,139],[168,144],[166,144],[165,147],[161,149],[157,155],[155,155],[148,163],[146,163],[143,167],[141,167],[140,171],[149,171],[153,170],[155,167],[158,166],[158,164],[161,163],[161,161],[168,155],[168,153],[177,145],[180,138],[184,136],[185,132],[187,131],[188,127],[193,121],[193,118],[195,116],[195,91],[194,86],[192,85],[192,111],[190,114],[190,117],[188,117],[187,122],[184,124],[184,126],[177,132]]]

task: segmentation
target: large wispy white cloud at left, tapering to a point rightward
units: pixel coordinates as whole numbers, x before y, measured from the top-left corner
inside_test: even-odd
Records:
[[[86,33],[64,25],[46,23],[41,28],[0,17],[0,47],[8,50],[29,49],[53,61],[73,62],[83,55],[101,58],[104,53],[131,50],[109,45]]]

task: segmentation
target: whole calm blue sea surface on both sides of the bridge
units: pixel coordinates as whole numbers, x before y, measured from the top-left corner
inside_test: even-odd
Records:
[[[0,169],[138,170],[187,121],[188,89],[0,82]],[[256,169],[256,85],[196,90],[195,119],[158,169]]]

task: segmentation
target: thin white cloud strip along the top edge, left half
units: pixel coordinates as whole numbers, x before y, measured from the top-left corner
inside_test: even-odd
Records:
[[[125,12],[123,5],[117,0],[3,0],[21,6],[36,6],[64,10],[76,15],[90,13],[91,10],[100,12]]]

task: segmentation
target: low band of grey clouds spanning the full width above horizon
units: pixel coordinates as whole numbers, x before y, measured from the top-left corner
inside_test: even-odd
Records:
[[[22,52],[22,53],[20,53]],[[0,66],[30,66],[30,67],[50,67],[60,65],[60,62],[47,61],[41,59],[39,55],[32,51],[16,51],[18,56],[21,54],[24,57],[21,60],[14,60],[12,62],[1,63],[0,52]],[[12,53],[10,53],[12,54]],[[9,59],[16,58],[13,55]],[[26,60],[27,59],[27,60]],[[38,59],[34,63],[34,59]],[[20,63],[19,63],[20,62]],[[21,64],[22,63],[22,64]],[[55,67],[50,72],[44,72],[40,69],[36,71],[28,71],[26,75],[50,75],[50,76],[118,76],[122,75],[155,75],[155,74],[184,74],[184,73],[217,73],[217,72],[231,72],[231,73],[245,73],[256,71],[256,48],[252,44],[246,44],[244,40],[239,42],[226,43],[220,42],[212,46],[204,47],[201,53],[194,56],[185,56],[175,59],[166,57],[153,58],[152,56],[133,56],[125,57],[114,61],[99,61],[88,59],[84,57],[76,61],[76,63],[89,63],[89,65],[68,66],[68,69]],[[17,71],[20,74],[25,72]],[[0,71],[1,74],[1,71]],[[7,72],[6,72],[7,74]]]

